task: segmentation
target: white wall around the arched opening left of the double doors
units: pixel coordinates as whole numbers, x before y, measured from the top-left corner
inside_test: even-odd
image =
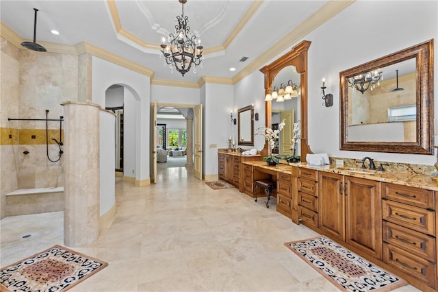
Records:
[[[125,151],[124,160],[128,163],[127,167],[130,167],[127,171],[129,175],[135,175],[136,180],[149,180],[149,107],[151,101],[149,77],[93,56],[92,102],[105,107],[105,90],[113,84],[125,86],[125,99],[135,100],[131,106],[127,105],[125,100],[124,117],[125,119],[131,117],[136,127],[135,132],[132,133],[132,141],[125,141],[125,145],[135,147],[134,151]],[[125,127],[125,130],[128,128]],[[134,169],[134,174],[132,169]],[[126,174],[127,171],[125,171]]]

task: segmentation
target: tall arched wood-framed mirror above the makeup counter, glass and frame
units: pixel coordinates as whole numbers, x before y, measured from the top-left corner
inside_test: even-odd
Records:
[[[292,127],[294,122],[300,121],[300,151],[296,155],[301,156],[302,162],[305,162],[306,154],[312,153],[307,144],[307,51],[310,44],[308,40],[303,40],[291,51],[260,69],[265,75],[265,125],[272,127],[272,124],[286,120],[287,125],[281,132],[278,148],[279,154],[291,155]],[[282,84],[285,88],[291,84],[296,93],[291,93],[290,98],[285,93],[279,101],[278,97],[272,97],[272,93],[279,90]],[[268,156],[269,150],[268,143],[265,143],[261,155]]]

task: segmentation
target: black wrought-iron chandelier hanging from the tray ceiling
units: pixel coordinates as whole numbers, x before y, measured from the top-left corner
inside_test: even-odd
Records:
[[[162,53],[166,64],[169,65],[173,73],[173,68],[177,69],[183,76],[190,71],[192,64],[194,66],[193,73],[196,73],[196,66],[201,64],[203,60],[203,46],[201,40],[198,40],[196,45],[196,36],[190,32],[188,25],[189,19],[184,16],[184,3],[187,0],[179,0],[183,5],[181,16],[177,16],[177,25],[175,25],[175,34],[169,34],[168,45],[162,44]],[[163,42],[166,39],[163,38]]]

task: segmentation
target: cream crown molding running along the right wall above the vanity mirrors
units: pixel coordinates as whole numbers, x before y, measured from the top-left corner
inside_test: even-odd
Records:
[[[248,66],[246,66],[239,73],[234,75],[232,78],[233,83],[235,84],[237,82],[240,82],[240,80],[250,75],[250,73],[257,71],[261,66],[269,62],[269,60],[271,60],[275,56],[279,55],[279,53],[287,49],[287,47],[294,45],[294,43],[298,42],[298,40],[301,40],[302,38],[307,36],[307,34],[312,32],[314,29],[316,29],[326,21],[329,21],[329,19],[333,18],[333,16],[335,16],[336,14],[347,8],[355,1],[356,0],[328,1],[317,12],[313,13],[308,19],[300,23],[300,25],[292,29],[292,31],[290,31],[278,42],[276,42],[272,47],[270,47],[268,50],[262,53],[259,58],[248,64]]]

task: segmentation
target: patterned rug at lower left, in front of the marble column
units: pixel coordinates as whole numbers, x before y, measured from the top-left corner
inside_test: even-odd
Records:
[[[0,291],[68,290],[108,264],[55,245],[0,270]]]

